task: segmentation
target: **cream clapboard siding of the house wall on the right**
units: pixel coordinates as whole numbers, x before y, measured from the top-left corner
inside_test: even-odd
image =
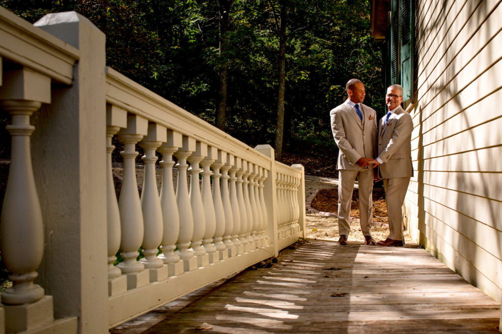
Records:
[[[404,211],[417,241],[498,301],[502,299],[500,3],[417,0],[411,111],[415,175]]]

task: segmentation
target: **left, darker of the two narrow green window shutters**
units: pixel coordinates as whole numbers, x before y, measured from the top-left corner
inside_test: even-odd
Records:
[[[401,82],[401,0],[391,3],[391,84]]]

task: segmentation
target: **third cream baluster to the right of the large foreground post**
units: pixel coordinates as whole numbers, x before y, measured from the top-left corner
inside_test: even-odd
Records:
[[[145,230],[142,247],[145,257],[141,261],[145,264],[145,268],[150,269],[150,282],[161,281],[168,276],[168,269],[164,267],[164,261],[157,257],[158,248],[162,243],[164,221],[155,172],[155,162],[157,161],[155,151],[166,140],[166,128],[156,123],[150,123],[148,124],[148,135],[140,142],[141,147],[145,149],[143,156],[145,177],[141,193]]]

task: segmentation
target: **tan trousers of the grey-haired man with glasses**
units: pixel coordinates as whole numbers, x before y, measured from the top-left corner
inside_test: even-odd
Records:
[[[385,201],[389,215],[389,238],[403,240],[403,203],[411,178],[384,179]]]

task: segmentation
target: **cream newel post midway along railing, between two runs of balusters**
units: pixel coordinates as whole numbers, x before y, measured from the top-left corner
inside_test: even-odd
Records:
[[[274,255],[279,255],[279,238],[277,235],[278,205],[276,189],[276,161],[274,148],[270,145],[258,145],[255,149],[270,158],[270,170],[268,178],[264,181],[263,197],[267,208],[267,234],[270,236],[271,244],[274,245]]]

